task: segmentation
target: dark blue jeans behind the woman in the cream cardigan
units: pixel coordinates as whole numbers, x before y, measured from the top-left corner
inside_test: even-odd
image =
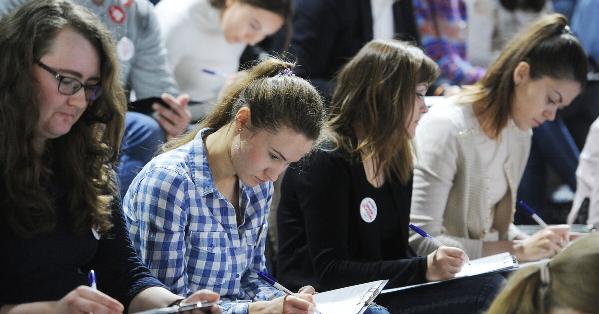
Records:
[[[547,191],[547,166],[558,174],[572,191],[576,191],[576,167],[580,152],[570,135],[561,114],[553,121],[545,121],[533,129],[530,156],[518,187],[517,200],[522,200],[543,219],[548,219],[545,207]],[[543,217],[545,215],[546,217]],[[526,212],[516,210],[515,224],[536,224]],[[546,220],[547,223],[551,223]],[[563,221],[561,222],[563,223]]]

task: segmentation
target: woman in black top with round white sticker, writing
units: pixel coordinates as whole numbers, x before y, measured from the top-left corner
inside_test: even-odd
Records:
[[[468,262],[461,249],[416,257],[408,245],[410,139],[437,75],[422,50],[394,40],[368,43],[341,70],[327,150],[283,178],[277,211],[283,285],[328,290],[389,279],[387,287],[395,288],[453,278]],[[501,281],[499,275],[462,279],[376,300],[392,313],[476,312]]]

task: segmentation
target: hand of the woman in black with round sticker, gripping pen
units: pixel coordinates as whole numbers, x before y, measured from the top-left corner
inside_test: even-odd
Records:
[[[441,281],[455,277],[464,264],[470,262],[464,251],[451,246],[441,246],[427,257],[426,281]]]

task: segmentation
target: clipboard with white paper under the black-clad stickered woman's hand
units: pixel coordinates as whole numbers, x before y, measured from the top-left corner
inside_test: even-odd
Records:
[[[444,281],[450,281],[468,276],[476,276],[485,273],[500,272],[502,270],[515,269],[518,267],[518,260],[516,260],[515,255],[510,254],[510,252],[504,252],[500,254],[489,255],[487,257],[477,258],[476,260],[471,260],[470,265],[464,265],[461,272],[456,273],[454,278]],[[385,289],[381,291],[381,293],[395,292],[404,289],[416,288],[419,286],[434,285],[438,282],[443,281],[431,281],[419,283],[418,285],[400,286],[398,288]]]

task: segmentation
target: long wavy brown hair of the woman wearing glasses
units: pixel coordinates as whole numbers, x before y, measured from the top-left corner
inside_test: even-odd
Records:
[[[32,66],[66,28],[98,51],[102,94],[66,135],[47,140],[40,154],[33,140],[41,100]],[[93,227],[106,233],[126,108],[110,32],[72,2],[30,1],[0,21],[0,73],[0,224],[19,237],[52,230],[57,208],[50,190],[58,187],[66,195],[72,231]]]

